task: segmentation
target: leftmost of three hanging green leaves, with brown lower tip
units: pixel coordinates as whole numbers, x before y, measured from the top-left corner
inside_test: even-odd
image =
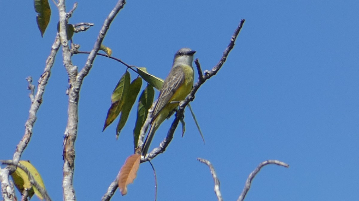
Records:
[[[126,70],[126,73],[122,75],[120,81],[118,81],[115,89],[112,92],[111,107],[107,111],[107,116],[102,131],[104,131],[106,127],[117,118],[118,114],[120,114],[122,106],[125,103],[127,91],[130,87],[130,79],[130,73]]]

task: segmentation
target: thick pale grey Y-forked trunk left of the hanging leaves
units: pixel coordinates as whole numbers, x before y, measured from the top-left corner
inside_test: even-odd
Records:
[[[106,18],[100,33],[95,42],[94,48],[92,49],[86,64],[83,69],[78,73],[78,69],[71,63],[71,51],[68,47],[67,35],[66,35],[66,25],[67,25],[67,16],[71,16],[71,13],[66,13],[65,11],[65,0],[59,0],[58,9],[60,15],[60,38],[62,44],[62,57],[63,62],[69,76],[69,108],[68,108],[68,119],[67,126],[64,134],[64,166],[63,166],[63,178],[62,178],[62,188],[64,192],[64,200],[76,200],[75,190],[73,186],[73,175],[74,175],[74,161],[75,161],[75,140],[77,135],[78,128],[78,101],[79,101],[79,92],[82,85],[84,77],[89,73],[89,70],[92,68],[93,61],[97,55],[97,52],[101,46],[102,40],[109,29],[109,26],[117,13],[125,5],[125,0],[119,0],[115,5],[115,8]],[[73,10],[76,8],[76,3]]]

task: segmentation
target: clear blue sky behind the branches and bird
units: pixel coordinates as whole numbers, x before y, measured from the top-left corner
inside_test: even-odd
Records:
[[[30,100],[26,77],[34,84],[55,39],[58,13],[41,38],[32,1],[0,2],[0,159],[13,157],[24,134]],[[74,1],[67,1],[67,10]],[[70,23],[94,23],[73,36],[89,51],[116,1],[79,1]],[[103,44],[113,56],[165,78],[173,54],[196,50],[202,69],[222,56],[239,21],[246,23],[227,62],[198,90],[191,103],[204,133],[185,113],[167,151],[153,160],[158,200],[216,200],[209,168],[221,181],[225,200],[236,200],[247,176],[262,161],[276,159],[253,180],[251,200],[359,200],[359,2],[358,1],[127,1]],[[87,55],[75,55],[82,68]],[[102,131],[110,97],[125,67],[97,57],[80,92],[74,185],[78,200],[99,200],[126,157],[133,153],[135,109],[115,139],[116,124]],[[131,78],[135,78],[131,74]],[[196,75],[197,77],[197,75]],[[33,137],[23,160],[42,175],[53,200],[62,199],[62,142],[67,121],[67,74],[57,54]],[[157,95],[156,95],[157,96]],[[153,144],[164,137],[169,123]],[[148,163],[134,184],[113,200],[153,200]],[[37,198],[34,198],[35,200]]]

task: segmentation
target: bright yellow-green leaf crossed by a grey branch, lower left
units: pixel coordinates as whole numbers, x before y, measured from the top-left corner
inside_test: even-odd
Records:
[[[36,168],[33,165],[31,165],[29,161],[19,161],[19,163],[21,163],[28,169],[28,171],[31,173],[34,180],[39,184],[39,186],[45,188],[41,175],[36,170]],[[20,191],[20,193],[22,193],[26,188],[29,193],[29,198],[31,198],[35,193],[35,195],[40,200],[43,199],[41,193],[37,190],[37,188],[31,185],[29,177],[25,171],[17,167],[15,172],[11,174],[11,177],[13,178],[14,184],[17,187],[17,189]]]

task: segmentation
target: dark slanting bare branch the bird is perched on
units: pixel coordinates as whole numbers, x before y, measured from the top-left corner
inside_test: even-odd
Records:
[[[187,95],[186,99],[183,100],[180,103],[179,106],[179,110],[176,113],[176,117],[174,118],[171,127],[169,128],[169,131],[167,133],[167,136],[163,139],[163,141],[160,143],[159,147],[154,148],[148,155],[146,155],[144,158],[141,159],[141,162],[144,161],[148,161],[153,159],[154,157],[156,157],[158,154],[163,153],[164,150],[166,149],[166,147],[168,146],[168,144],[171,142],[172,138],[173,138],[173,133],[175,131],[175,129],[177,128],[178,122],[180,121],[181,118],[183,118],[183,112],[185,110],[185,107],[187,106],[187,104],[192,101],[195,97],[195,93],[197,92],[197,90],[200,88],[200,86],[206,82],[206,80],[208,80],[209,78],[211,78],[213,75],[215,75],[219,69],[222,67],[222,65],[224,64],[225,60],[228,57],[229,52],[233,49],[234,47],[234,42],[237,39],[237,36],[239,34],[239,31],[241,31],[242,26],[244,24],[244,19],[241,20],[241,22],[239,23],[239,25],[237,26],[236,30],[234,31],[234,34],[232,35],[232,38],[230,39],[230,43],[227,46],[227,48],[224,50],[222,58],[219,60],[219,62],[217,63],[217,65],[215,65],[210,71],[206,70],[205,74],[202,76],[203,79],[199,79],[195,84],[194,87],[191,90],[191,93]],[[144,136],[141,136],[143,133],[141,132],[140,137],[139,138],[143,138]],[[140,145],[140,144],[139,144]]]

